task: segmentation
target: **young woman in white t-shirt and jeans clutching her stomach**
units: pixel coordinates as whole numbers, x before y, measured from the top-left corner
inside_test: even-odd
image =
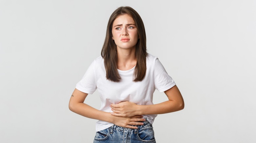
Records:
[[[83,103],[96,89],[101,99],[99,110]],[[153,104],[155,89],[164,92],[168,100]],[[119,7],[110,16],[101,56],[77,83],[69,108],[98,120],[94,143],[154,143],[152,123],[157,114],[184,108],[173,79],[159,59],[146,52],[144,24],[133,8]]]

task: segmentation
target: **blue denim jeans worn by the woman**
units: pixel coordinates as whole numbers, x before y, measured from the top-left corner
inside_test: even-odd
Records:
[[[146,120],[138,129],[113,125],[96,132],[94,143],[156,143],[152,125]]]

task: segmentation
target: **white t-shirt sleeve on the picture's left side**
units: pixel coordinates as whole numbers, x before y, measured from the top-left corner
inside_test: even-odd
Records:
[[[93,94],[97,89],[95,76],[95,60],[85,72],[83,78],[76,84],[76,89],[84,93]]]

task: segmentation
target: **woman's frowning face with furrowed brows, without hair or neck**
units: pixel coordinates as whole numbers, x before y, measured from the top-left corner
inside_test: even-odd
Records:
[[[133,18],[127,14],[119,15],[113,22],[112,35],[117,48],[135,48],[138,31]]]

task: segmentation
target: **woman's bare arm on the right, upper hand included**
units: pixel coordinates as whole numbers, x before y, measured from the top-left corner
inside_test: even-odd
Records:
[[[145,114],[165,114],[182,110],[184,108],[184,101],[180,90],[175,85],[174,87],[164,91],[168,97],[168,101],[153,104],[153,105],[137,105],[132,102],[120,102],[118,104],[111,104],[112,113],[114,116],[129,117],[134,115]]]

